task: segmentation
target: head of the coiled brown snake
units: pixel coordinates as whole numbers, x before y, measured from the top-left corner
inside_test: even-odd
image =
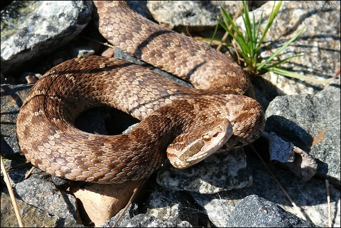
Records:
[[[183,169],[197,164],[216,152],[232,135],[231,123],[223,118],[216,118],[197,128],[200,129],[186,130],[168,146],[167,157],[175,168]]]

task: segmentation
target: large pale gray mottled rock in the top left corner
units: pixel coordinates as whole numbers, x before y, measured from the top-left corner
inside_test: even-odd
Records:
[[[68,44],[90,21],[92,3],[33,1],[20,10],[26,14],[17,15],[11,24],[9,16],[1,17],[1,73]]]

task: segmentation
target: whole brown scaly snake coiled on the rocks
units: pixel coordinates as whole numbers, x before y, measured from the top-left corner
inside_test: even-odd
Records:
[[[73,181],[123,183],[150,177],[166,159],[187,168],[258,139],[265,125],[250,80],[227,55],[168,30],[124,1],[94,1],[98,30],[113,46],[188,80],[186,87],[117,58],[73,58],[47,71],[17,117],[26,159]],[[75,119],[109,106],[139,120],[130,132],[84,132]]]

